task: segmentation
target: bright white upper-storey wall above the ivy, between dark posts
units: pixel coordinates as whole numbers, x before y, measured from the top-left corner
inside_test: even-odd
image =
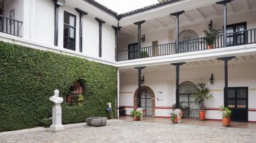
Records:
[[[84,3],[84,2],[83,2]],[[4,15],[15,8],[15,19],[24,21],[26,40],[54,46],[54,2],[52,0],[5,0]],[[75,8],[65,4],[58,10],[58,48],[63,48],[63,19],[64,11],[76,15],[76,53],[79,53],[79,13]],[[83,20],[83,52],[87,57],[98,57],[98,22],[90,13]],[[23,16],[24,15],[24,16]],[[101,18],[100,18],[101,19]],[[102,27],[102,57],[101,60],[115,61],[115,30],[107,22]],[[70,53],[73,51],[70,50]]]

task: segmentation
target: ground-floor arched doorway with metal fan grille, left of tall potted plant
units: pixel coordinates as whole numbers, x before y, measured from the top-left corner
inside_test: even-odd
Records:
[[[179,104],[184,111],[184,118],[198,118],[199,104],[196,102],[198,86],[191,81],[179,85]]]

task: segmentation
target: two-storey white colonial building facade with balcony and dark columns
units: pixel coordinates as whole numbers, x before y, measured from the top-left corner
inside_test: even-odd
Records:
[[[173,104],[198,118],[219,106],[256,122],[256,1],[169,0],[118,15],[94,0],[1,0],[0,39],[117,67],[117,107],[169,117]],[[205,34],[209,34],[205,36]],[[210,80],[211,79],[211,80]]]

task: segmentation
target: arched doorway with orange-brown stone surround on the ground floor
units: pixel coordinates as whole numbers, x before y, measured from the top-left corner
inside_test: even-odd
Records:
[[[134,109],[138,108],[138,89],[134,93]],[[155,117],[155,93],[148,86],[141,86],[141,108],[145,110],[143,116]]]

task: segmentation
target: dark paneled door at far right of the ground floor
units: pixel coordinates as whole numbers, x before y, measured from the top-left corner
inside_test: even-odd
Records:
[[[231,121],[248,121],[248,87],[228,88],[225,107],[231,111]]]

